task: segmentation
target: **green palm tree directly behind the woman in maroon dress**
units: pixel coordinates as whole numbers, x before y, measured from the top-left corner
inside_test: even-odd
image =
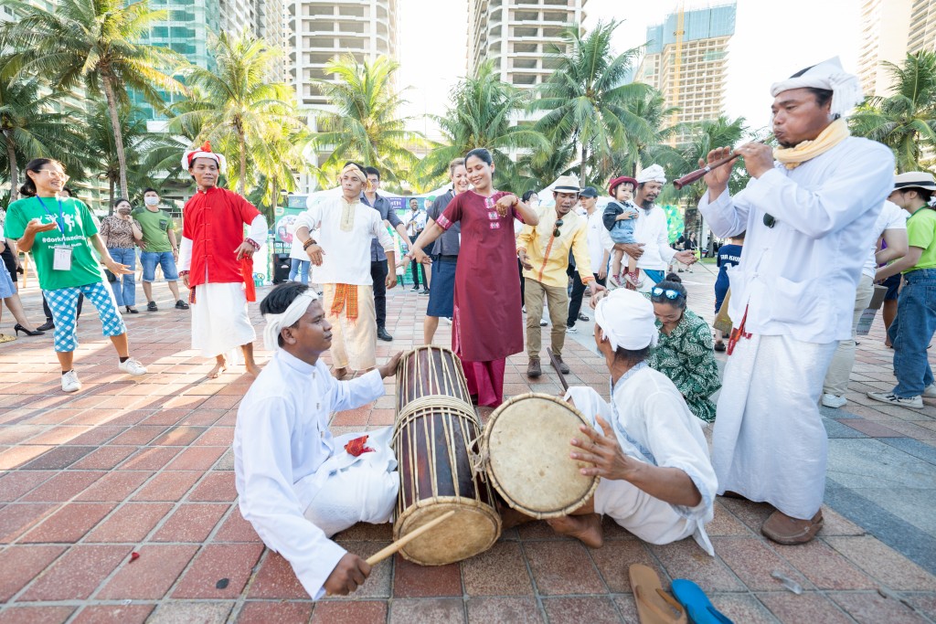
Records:
[[[474,78],[467,78],[452,91],[443,117],[433,117],[445,137],[422,160],[419,177],[432,181],[448,170],[448,163],[478,147],[494,156],[494,185],[521,192],[522,181],[511,152],[549,152],[549,141],[533,125],[514,124],[525,113],[530,94],[499,78],[490,61],[481,65]],[[529,157],[532,157],[528,154]],[[551,181],[551,180],[550,180]]]

